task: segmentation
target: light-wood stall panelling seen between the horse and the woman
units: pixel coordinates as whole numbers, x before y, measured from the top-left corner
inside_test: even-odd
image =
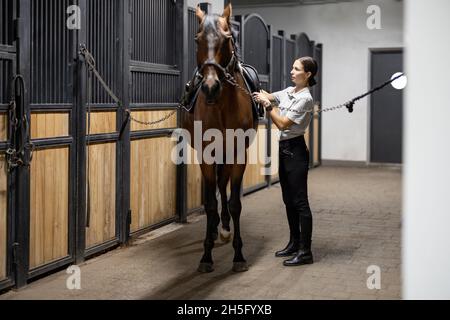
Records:
[[[248,149],[248,160],[247,168],[245,169],[243,187],[244,190],[250,187],[257,186],[261,183],[266,182],[266,176],[264,175],[264,161],[266,159],[262,158],[261,155],[267,155],[266,141],[267,141],[267,130],[266,126],[261,124],[258,126],[258,134],[256,139],[253,140],[252,145]],[[256,148],[254,146],[256,144]],[[253,154],[256,163],[250,163],[251,152],[257,152],[256,155]]]

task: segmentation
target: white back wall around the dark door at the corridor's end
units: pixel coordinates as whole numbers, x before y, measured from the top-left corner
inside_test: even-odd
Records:
[[[366,25],[369,5],[381,9],[381,29]],[[334,106],[369,89],[369,48],[403,46],[403,1],[372,0],[292,7],[236,8],[234,14],[259,13],[272,30],[305,32],[323,44],[322,105]],[[354,112],[323,114],[322,159],[368,161],[369,100]],[[346,109],[344,109],[346,110]]]

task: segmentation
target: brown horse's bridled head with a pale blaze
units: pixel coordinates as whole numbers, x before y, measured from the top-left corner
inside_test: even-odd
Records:
[[[208,104],[215,104],[222,91],[221,80],[226,77],[234,60],[234,45],[231,33],[231,4],[222,16],[206,15],[197,6],[196,15],[200,24],[195,37],[197,42],[197,65],[203,76],[202,91]]]

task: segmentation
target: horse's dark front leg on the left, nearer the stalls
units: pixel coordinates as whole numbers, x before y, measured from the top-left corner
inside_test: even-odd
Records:
[[[197,270],[200,272],[211,272],[214,270],[212,260],[214,237],[217,237],[217,226],[220,219],[217,212],[216,172],[213,165],[202,164],[201,169],[205,178],[205,211],[207,222],[206,237],[203,242],[204,253]]]

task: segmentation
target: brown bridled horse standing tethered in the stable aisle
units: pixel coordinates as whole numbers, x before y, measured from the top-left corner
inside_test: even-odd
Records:
[[[233,219],[234,237],[233,271],[247,271],[247,263],[242,254],[242,239],[240,235],[239,219],[242,205],[240,200],[242,178],[244,175],[247,155],[246,150],[238,150],[238,143],[226,139],[227,129],[257,129],[257,117],[252,112],[252,101],[245,88],[240,65],[235,55],[235,46],[231,30],[231,5],[227,5],[222,16],[206,15],[197,7],[196,16],[199,21],[199,31],[196,35],[197,64],[202,76],[201,91],[197,97],[192,113],[184,112],[182,126],[187,129],[193,139],[194,121],[201,122],[202,137],[206,130],[216,129],[223,137],[223,157],[226,152],[233,152],[233,161],[214,161],[213,163],[200,163],[205,182],[205,211],[207,214],[206,238],[204,241],[204,254],[200,261],[198,271],[213,271],[212,249],[218,236],[218,225],[222,220],[221,238],[229,240],[230,215]],[[201,137],[200,137],[201,139]],[[202,150],[212,143],[203,141]],[[245,141],[245,149],[251,141]],[[232,150],[227,146],[232,145]],[[194,148],[195,148],[194,144]],[[244,149],[244,148],[241,148]],[[198,155],[202,156],[202,150]],[[238,160],[238,155],[244,153],[245,162]],[[227,185],[231,182],[230,201],[227,203]],[[216,187],[221,194],[222,212],[219,217]]]

